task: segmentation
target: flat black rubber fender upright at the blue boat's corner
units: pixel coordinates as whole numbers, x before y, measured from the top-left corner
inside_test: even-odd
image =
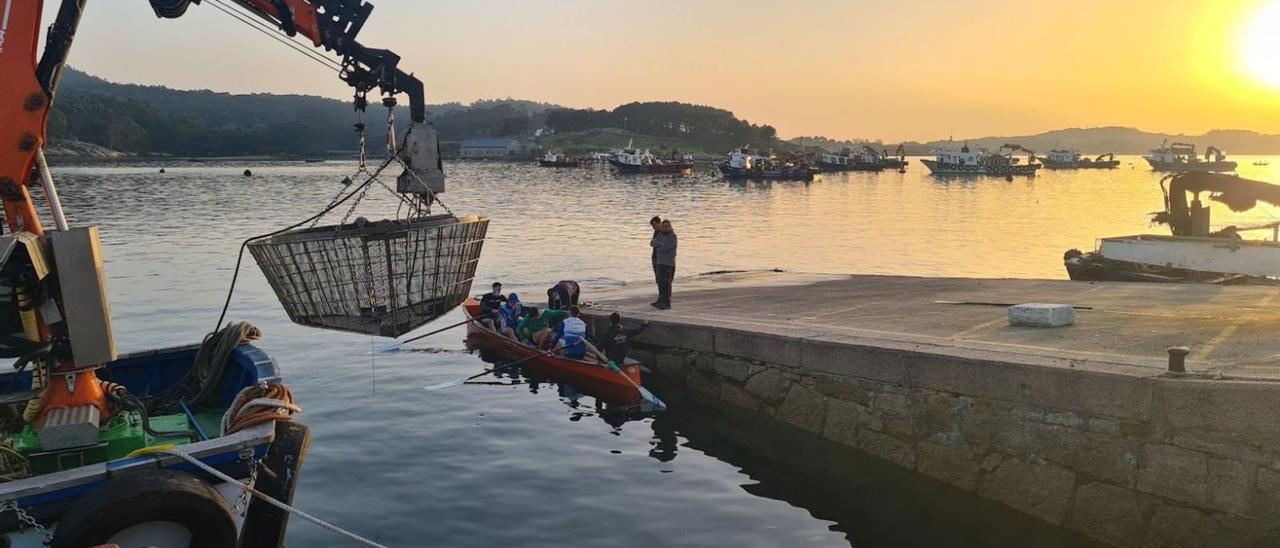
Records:
[[[266,449],[262,466],[253,487],[285,504],[293,503],[298,488],[298,472],[311,448],[311,429],[302,423],[280,420],[275,423],[275,439]],[[253,497],[244,513],[241,548],[279,548],[284,545],[284,531],[289,526],[289,512]]]

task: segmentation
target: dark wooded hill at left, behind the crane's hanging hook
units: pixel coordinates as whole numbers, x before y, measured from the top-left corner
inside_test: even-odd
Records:
[[[372,102],[372,101],[371,101]],[[556,105],[488,100],[429,105],[442,140],[527,134]],[[408,120],[398,108],[397,122]],[[376,102],[366,114],[371,142],[384,132]],[[138,155],[236,156],[353,152],[351,104],[308,95],[225,93],[108,82],[68,69],[50,117],[51,149],[83,142]]]

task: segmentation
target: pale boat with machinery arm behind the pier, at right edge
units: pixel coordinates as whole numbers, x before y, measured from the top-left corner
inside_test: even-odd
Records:
[[[1280,223],[1211,228],[1210,209],[1199,196],[1245,211],[1267,202],[1280,205],[1280,186],[1235,175],[1184,172],[1161,181],[1165,211],[1152,220],[1167,224],[1171,236],[1138,234],[1102,238],[1091,252],[1068,251],[1062,260],[1074,280],[1166,283],[1261,283],[1280,280]],[[1188,197],[1190,202],[1188,204]],[[1266,230],[1271,239],[1244,239]]]

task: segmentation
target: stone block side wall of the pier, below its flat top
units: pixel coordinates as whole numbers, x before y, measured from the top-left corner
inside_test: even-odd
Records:
[[[598,333],[607,314],[588,312]],[[1280,545],[1280,383],[664,321],[632,356],[707,398],[1107,544]]]

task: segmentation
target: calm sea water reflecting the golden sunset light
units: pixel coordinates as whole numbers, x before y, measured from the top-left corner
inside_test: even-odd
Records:
[[[909,172],[813,183],[621,177],[605,169],[449,166],[445,204],[493,218],[477,287],[540,293],[645,283],[646,225],[671,218],[680,275],[814,273],[1065,278],[1062,252],[1144,232],[1158,175],[1108,172],[940,179]],[[1280,161],[1242,174],[1280,181]],[[157,173],[164,166],[168,173]],[[244,168],[253,177],[243,177]],[[214,328],[241,239],[321,209],[346,163],[145,163],[55,168],[73,224],[97,224],[118,346],[198,342]],[[374,188],[355,215],[394,214]],[[342,213],[333,219],[340,219]],[[1215,210],[1215,224],[1280,218]],[[264,329],[312,428],[296,503],[392,545],[1074,545],[1078,538],[788,430],[762,429],[684,396],[625,421],[556,387],[428,384],[481,370],[461,332],[415,351],[288,323],[246,257],[229,319]],[[460,312],[440,320],[461,319]],[[452,323],[452,321],[449,321]],[[509,380],[509,379],[508,379]],[[296,521],[294,545],[335,544]]]

